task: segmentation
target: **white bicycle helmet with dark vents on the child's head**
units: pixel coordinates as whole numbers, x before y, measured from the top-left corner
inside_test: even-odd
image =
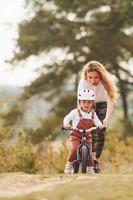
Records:
[[[94,100],[95,94],[92,90],[82,89],[78,92],[78,100]]]

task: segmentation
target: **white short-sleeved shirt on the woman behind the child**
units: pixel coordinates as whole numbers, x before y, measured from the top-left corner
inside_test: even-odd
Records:
[[[95,93],[95,102],[104,102],[107,101],[108,95],[107,91],[104,88],[102,82],[100,81],[97,86],[92,86],[87,80],[81,79],[78,85],[78,92],[81,89],[89,89]]]

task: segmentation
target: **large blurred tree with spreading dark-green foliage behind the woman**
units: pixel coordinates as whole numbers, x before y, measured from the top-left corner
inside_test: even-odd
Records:
[[[67,86],[72,85],[76,96],[83,65],[98,60],[116,77],[124,118],[128,119],[127,93],[128,86],[133,85],[133,75],[123,64],[127,66],[133,56],[132,0],[28,0],[26,3],[29,15],[19,25],[13,61],[26,60],[31,55],[44,55],[45,60],[46,53],[58,49],[65,56],[42,65],[38,78],[25,87],[23,99],[45,92],[48,100],[54,97],[61,102],[60,95],[65,94],[66,101],[61,105],[57,102],[53,109],[54,116],[59,115],[58,105],[64,108],[68,105]]]

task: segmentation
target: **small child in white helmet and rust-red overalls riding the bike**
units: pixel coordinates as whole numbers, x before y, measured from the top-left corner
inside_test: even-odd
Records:
[[[63,126],[65,128],[70,128],[72,126],[73,128],[77,127],[81,129],[89,129],[94,125],[102,128],[103,125],[101,121],[98,119],[96,113],[93,111],[94,98],[94,92],[92,92],[91,90],[80,90],[78,92],[79,108],[72,110],[68,115],[66,115],[63,121]],[[72,162],[76,157],[77,148],[81,143],[81,134],[76,130],[72,131],[70,135],[70,140],[71,148],[68,153],[67,163],[64,170],[66,174],[71,173]],[[87,136],[87,143],[92,144],[92,138],[90,134],[88,134]],[[92,158],[88,162],[88,172],[94,172]]]

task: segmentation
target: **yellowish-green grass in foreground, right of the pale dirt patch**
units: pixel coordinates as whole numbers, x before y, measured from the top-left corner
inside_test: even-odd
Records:
[[[133,199],[133,174],[78,174],[60,175],[59,177],[58,184],[51,184],[40,192],[15,198],[0,198],[0,200]]]

